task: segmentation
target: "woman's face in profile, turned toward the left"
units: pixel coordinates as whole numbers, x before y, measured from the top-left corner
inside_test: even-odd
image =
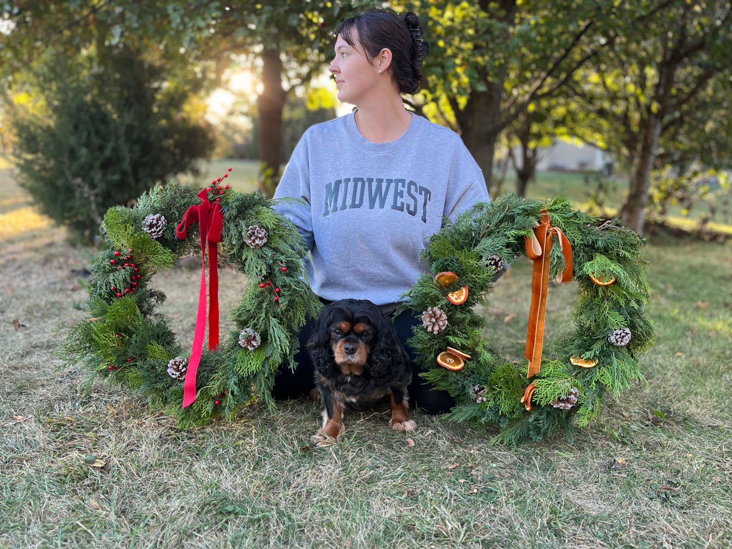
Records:
[[[348,45],[343,37],[338,36],[335,42],[335,59],[328,70],[335,76],[338,100],[358,106],[367,94],[376,88],[376,79],[379,78],[379,74],[378,68],[366,58],[356,29],[353,29],[351,36],[354,39],[355,48]],[[386,78],[386,75],[381,78]]]

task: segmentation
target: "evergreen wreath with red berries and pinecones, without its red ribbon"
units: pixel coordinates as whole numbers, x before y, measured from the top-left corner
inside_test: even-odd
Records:
[[[70,329],[61,347],[66,364],[82,365],[90,374],[87,386],[102,376],[142,391],[181,427],[234,417],[255,397],[274,410],[275,373],[282,365],[295,367],[299,329],[321,307],[296,251],[305,244],[294,225],[272,209],[278,201],[234,193],[217,184],[222,179],[212,182],[206,194],[223,213],[220,247],[248,283],[231,313],[236,329],[201,355],[193,404],[181,406],[190,349],[179,346],[155,312],[165,294],[149,283],[179,256],[201,250],[197,228],[189,229],[185,239],[176,237],[189,206],[201,201],[199,189],[155,187],[132,208],[108,210],[102,222],[108,247],[92,268],[89,318]]]

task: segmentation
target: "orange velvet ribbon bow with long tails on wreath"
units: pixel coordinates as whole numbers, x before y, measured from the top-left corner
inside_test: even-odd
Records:
[[[559,227],[549,223],[549,212],[542,210],[542,223],[535,231],[535,236],[525,237],[526,255],[534,261],[534,274],[531,277],[531,309],[529,310],[529,333],[526,335],[526,358],[529,359],[530,378],[539,373],[542,367],[542,345],[544,343],[544,317],[547,308],[547,291],[549,288],[549,253],[553,235],[559,238],[561,251],[567,267],[559,277],[559,282],[572,280],[572,244]]]

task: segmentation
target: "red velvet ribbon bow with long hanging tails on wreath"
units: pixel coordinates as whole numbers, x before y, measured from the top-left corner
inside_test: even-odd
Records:
[[[219,346],[219,272],[218,272],[218,243],[221,242],[221,229],[224,215],[221,204],[210,203],[206,189],[198,193],[201,203],[190,206],[183,214],[183,219],[176,228],[179,239],[186,237],[186,230],[190,225],[198,223],[198,232],[201,233],[201,290],[198,292],[198,316],[195,320],[195,335],[193,347],[190,350],[190,360],[183,384],[183,408],[195,400],[195,374],[201,363],[203,352],[203,337],[206,333],[206,242],[209,244],[209,349]]]

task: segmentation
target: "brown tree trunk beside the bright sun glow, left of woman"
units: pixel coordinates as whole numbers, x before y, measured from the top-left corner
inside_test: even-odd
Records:
[[[262,51],[262,83],[264,91],[257,99],[259,110],[259,159],[261,173],[259,191],[272,198],[280,176],[280,149],[282,148],[282,111],[287,93],[282,88],[282,60],[280,51],[264,48]]]

